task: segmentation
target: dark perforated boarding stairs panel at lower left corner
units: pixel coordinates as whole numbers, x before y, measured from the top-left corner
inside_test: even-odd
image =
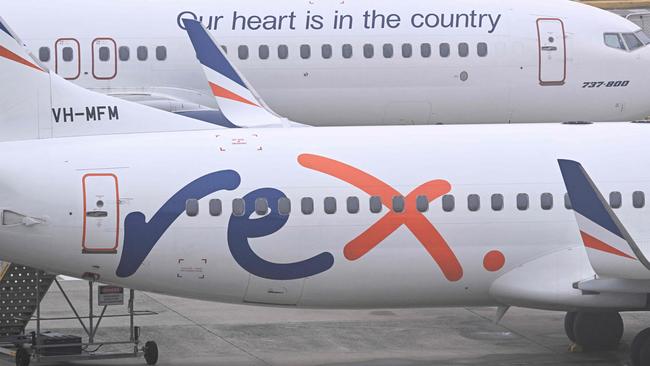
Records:
[[[36,268],[0,263],[0,337],[24,334],[55,279]]]

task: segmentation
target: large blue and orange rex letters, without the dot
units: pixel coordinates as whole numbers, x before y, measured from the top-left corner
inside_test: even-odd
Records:
[[[429,220],[417,210],[418,197],[425,196],[429,202],[438,199],[451,190],[449,182],[432,180],[415,188],[405,196],[404,212],[393,210],[393,197],[401,194],[388,184],[350,165],[326,157],[303,154],[298,162],[305,168],[315,170],[347,182],[371,196],[378,196],[384,206],[390,209],[361,235],[347,243],[345,258],[355,261],[369,253],[397,229],[406,226],[424,246],[438,264],[447,280],[455,282],[463,277],[463,268],[445,239]],[[125,219],[124,248],[117,269],[119,277],[133,275],[142,265],[156,243],[185,210],[188,199],[201,199],[221,190],[235,190],[241,177],[233,170],[205,175],[183,187],[154,214],[149,222],[141,212],[132,212]],[[246,271],[258,277],[273,280],[291,280],[315,276],[334,265],[334,256],[323,252],[312,258],[294,263],[273,263],[258,256],[248,239],[270,236],[289,220],[280,215],[278,201],[286,197],[275,188],[261,188],[244,196],[245,214],[231,215],[228,223],[228,247],[235,261]],[[251,219],[255,212],[255,201],[265,198],[269,203],[269,214]]]

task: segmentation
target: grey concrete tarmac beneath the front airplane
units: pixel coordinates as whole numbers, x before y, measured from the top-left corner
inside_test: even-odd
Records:
[[[87,284],[61,283],[78,310],[86,313]],[[142,341],[158,343],[161,366],[627,365],[632,338],[650,326],[645,313],[624,314],[626,330],[618,350],[572,353],[564,334],[564,314],[526,309],[511,309],[496,325],[493,308],[323,311],[136,293],[136,310],[159,313],[136,318],[136,325],[142,327]],[[55,287],[45,297],[42,312],[44,317],[72,315]],[[124,312],[126,306],[109,308],[111,314]],[[33,327],[31,322],[28,331]],[[44,328],[82,334],[76,320],[47,322]],[[128,319],[105,319],[98,331],[98,339],[104,341],[128,336]],[[13,364],[13,360],[0,361],[0,366]],[[145,362],[133,358],[59,364]]]

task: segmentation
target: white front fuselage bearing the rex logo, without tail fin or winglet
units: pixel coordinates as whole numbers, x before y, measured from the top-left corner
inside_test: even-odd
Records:
[[[603,190],[621,192],[617,213],[646,250],[650,214],[631,197],[650,192],[649,128],[353,127],[4,142],[0,247],[5,260],[56,273],[232,303],[495,305],[505,286],[520,287],[521,303],[532,307],[641,309],[645,295],[571,287],[594,272],[565,208],[557,159],[581,161]],[[542,208],[543,194],[552,207],[546,200]],[[502,195],[502,208],[493,195]],[[380,213],[371,212],[374,196]],[[421,196],[431,201],[426,210],[416,208]],[[248,200],[243,216],[237,198]]]

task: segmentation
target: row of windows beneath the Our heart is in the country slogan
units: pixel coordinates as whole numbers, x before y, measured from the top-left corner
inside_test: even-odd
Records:
[[[224,50],[228,52],[228,49],[224,47]],[[298,53],[300,58],[307,60],[313,57],[312,46],[308,44],[303,44],[298,47]],[[277,54],[277,57],[280,60],[286,60],[290,57],[290,49],[287,45],[279,45],[273,50]],[[338,51],[336,51],[338,52]],[[418,45],[413,45],[411,43],[404,43],[402,45],[394,45],[392,43],[385,43],[381,46],[375,46],[374,44],[365,44],[361,50],[364,58],[393,58],[400,55],[403,58],[411,58],[417,52],[423,58],[429,58],[433,55],[433,46],[430,43],[421,43]],[[452,52],[457,52],[460,57],[469,57],[470,56],[470,45],[468,43],[459,43],[455,50],[452,50],[452,46],[449,43],[441,43],[438,46],[438,54],[442,58],[447,58],[452,55]],[[271,58],[272,49],[268,45],[261,45],[257,47],[257,56],[261,60],[268,60]],[[331,44],[324,44],[320,47],[320,56],[323,59],[331,59],[334,57],[335,49]],[[354,56],[354,47],[351,44],[344,44],[340,49],[341,57],[345,59],[352,58]],[[380,56],[381,55],[381,56]],[[480,42],[476,44],[476,55],[479,57],[487,57],[488,55],[488,45],[487,43]],[[237,48],[237,57],[240,60],[248,60],[251,57],[251,49],[249,46],[239,46]]]

